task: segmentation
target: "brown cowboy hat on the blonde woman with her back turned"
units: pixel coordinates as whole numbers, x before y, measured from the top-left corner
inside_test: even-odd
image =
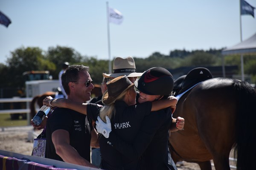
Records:
[[[108,90],[102,96],[104,105],[111,105],[116,101],[116,98],[126,92],[128,88],[133,86],[127,76],[119,76],[107,82]]]

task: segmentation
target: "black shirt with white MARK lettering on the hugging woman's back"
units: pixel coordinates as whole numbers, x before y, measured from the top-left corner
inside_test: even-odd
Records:
[[[111,118],[112,131],[123,141],[132,144],[136,137],[141,123],[145,116],[151,114],[152,103],[145,102],[140,105],[128,106],[123,101],[115,102],[116,114]],[[97,120],[99,106],[96,104],[87,105],[87,116]],[[138,165],[138,160],[130,160],[118,150],[104,136],[99,139],[100,151],[102,154],[102,169],[107,170],[134,170],[133,165]]]

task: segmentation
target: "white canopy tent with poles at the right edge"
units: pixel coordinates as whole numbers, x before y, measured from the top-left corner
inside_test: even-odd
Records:
[[[240,42],[239,44],[236,44],[232,47],[224,49],[222,52],[222,55],[232,55],[232,54],[240,54],[241,55],[241,77],[242,81],[244,81],[244,54],[256,54],[256,33],[248,38],[247,40],[244,40]],[[223,74],[225,77],[225,69],[224,69],[224,62],[223,62]]]

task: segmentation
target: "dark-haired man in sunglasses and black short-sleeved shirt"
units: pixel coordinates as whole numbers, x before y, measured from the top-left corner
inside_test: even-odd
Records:
[[[94,88],[89,67],[71,65],[61,76],[67,99],[79,103],[90,100]],[[99,147],[92,120],[79,112],[54,108],[47,119],[46,158],[65,161],[87,167],[90,163],[90,147]]]

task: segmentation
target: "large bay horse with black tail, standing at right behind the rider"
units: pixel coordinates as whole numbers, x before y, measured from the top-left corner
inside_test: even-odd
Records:
[[[177,102],[173,117],[185,119],[184,130],[170,133],[169,149],[175,163],[198,163],[201,170],[230,170],[232,149],[238,170],[255,169],[256,90],[229,78],[199,82]]]

